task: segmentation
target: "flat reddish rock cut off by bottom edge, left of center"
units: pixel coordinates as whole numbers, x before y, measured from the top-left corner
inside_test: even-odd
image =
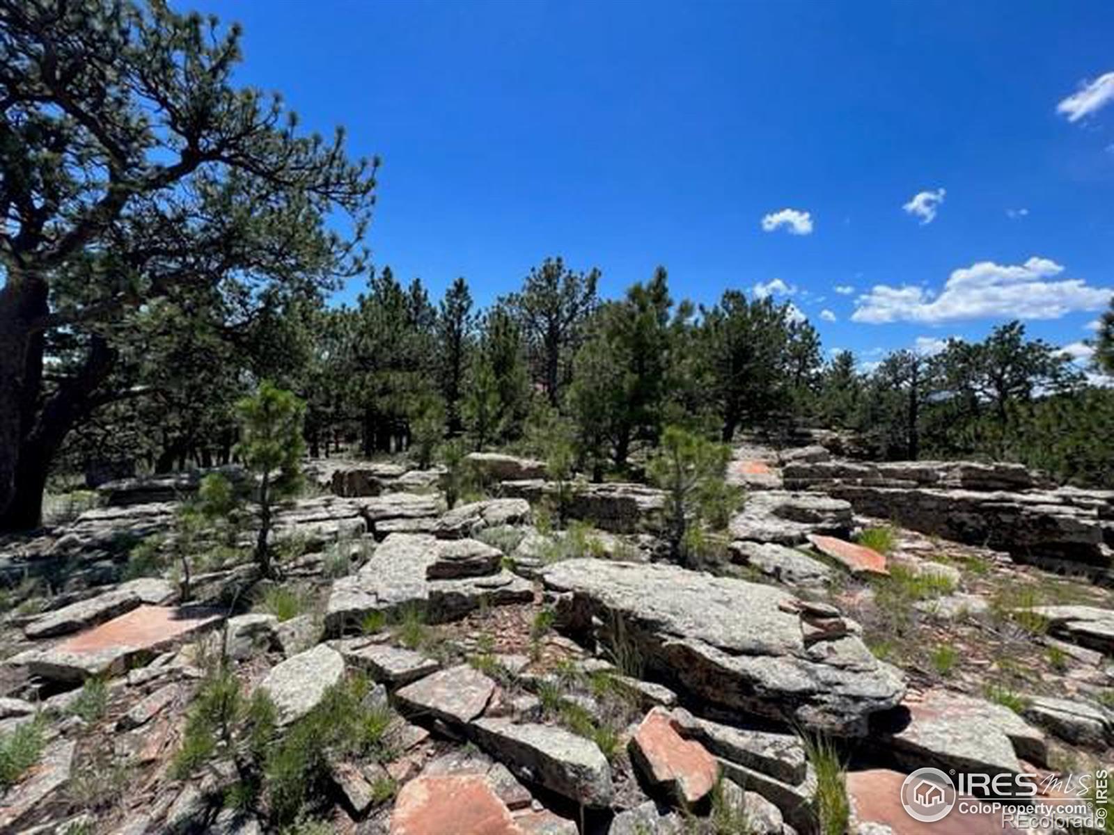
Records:
[[[391,835],[521,835],[480,775],[418,777],[399,792]]]

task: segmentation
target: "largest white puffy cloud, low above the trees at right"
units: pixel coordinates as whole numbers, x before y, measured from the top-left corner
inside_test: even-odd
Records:
[[[956,322],[971,318],[1059,318],[1073,311],[1105,307],[1114,288],[1092,287],[1079,278],[1051,281],[1064,267],[1033,257],[1004,266],[981,261],[956,269],[939,295],[919,286],[876,285],[856,299],[853,322]]]

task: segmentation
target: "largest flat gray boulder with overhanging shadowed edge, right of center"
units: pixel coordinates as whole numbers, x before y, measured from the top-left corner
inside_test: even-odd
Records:
[[[714,705],[863,734],[868,717],[905,692],[902,674],[848,621],[771,586],[593,559],[558,562],[543,580],[560,595],[563,627],[588,632],[593,618],[620,619],[652,671]]]

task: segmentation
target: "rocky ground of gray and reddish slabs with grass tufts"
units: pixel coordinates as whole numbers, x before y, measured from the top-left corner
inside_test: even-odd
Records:
[[[695,570],[656,490],[555,531],[544,464],[476,466],[446,510],[436,470],[314,462],[282,581],[206,541],[187,603],[143,543],[194,477],[0,542],[0,832],[990,833],[911,821],[905,775],[1111,764],[1114,492],[746,444]]]

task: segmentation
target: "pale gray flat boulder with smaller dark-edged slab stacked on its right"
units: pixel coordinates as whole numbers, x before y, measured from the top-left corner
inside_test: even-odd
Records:
[[[459,618],[480,605],[526,602],[527,580],[500,568],[501,552],[472,539],[392,533],[360,571],[333,582],[325,629],[340,635],[369,612],[414,608],[430,622]]]

